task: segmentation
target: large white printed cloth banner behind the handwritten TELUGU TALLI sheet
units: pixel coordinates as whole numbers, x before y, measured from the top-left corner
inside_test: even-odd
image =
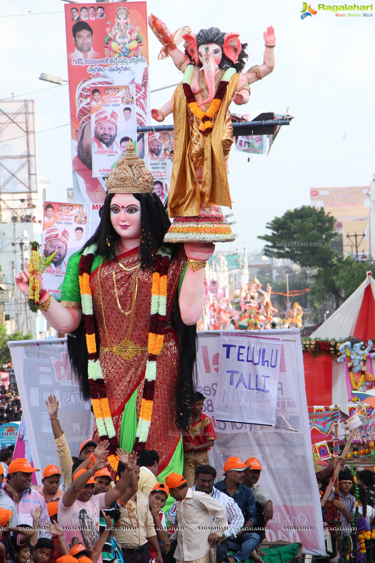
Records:
[[[223,479],[223,464],[228,457],[238,455],[242,461],[252,456],[259,459],[263,468],[259,484],[273,502],[273,519],[267,524],[266,539],[301,542],[304,553],[324,555],[323,519],[311,454],[300,330],[254,330],[247,334],[256,337],[264,334],[277,339],[281,345],[275,427],[223,420],[223,415],[218,413],[220,332],[198,332],[198,391],[206,397],[205,413],[214,418],[217,436],[209,452],[210,463],[216,468],[219,481]],[[242,345],[240,332],[232,332],[231,337]],[[246,360],[247,348],[242,352]]]

